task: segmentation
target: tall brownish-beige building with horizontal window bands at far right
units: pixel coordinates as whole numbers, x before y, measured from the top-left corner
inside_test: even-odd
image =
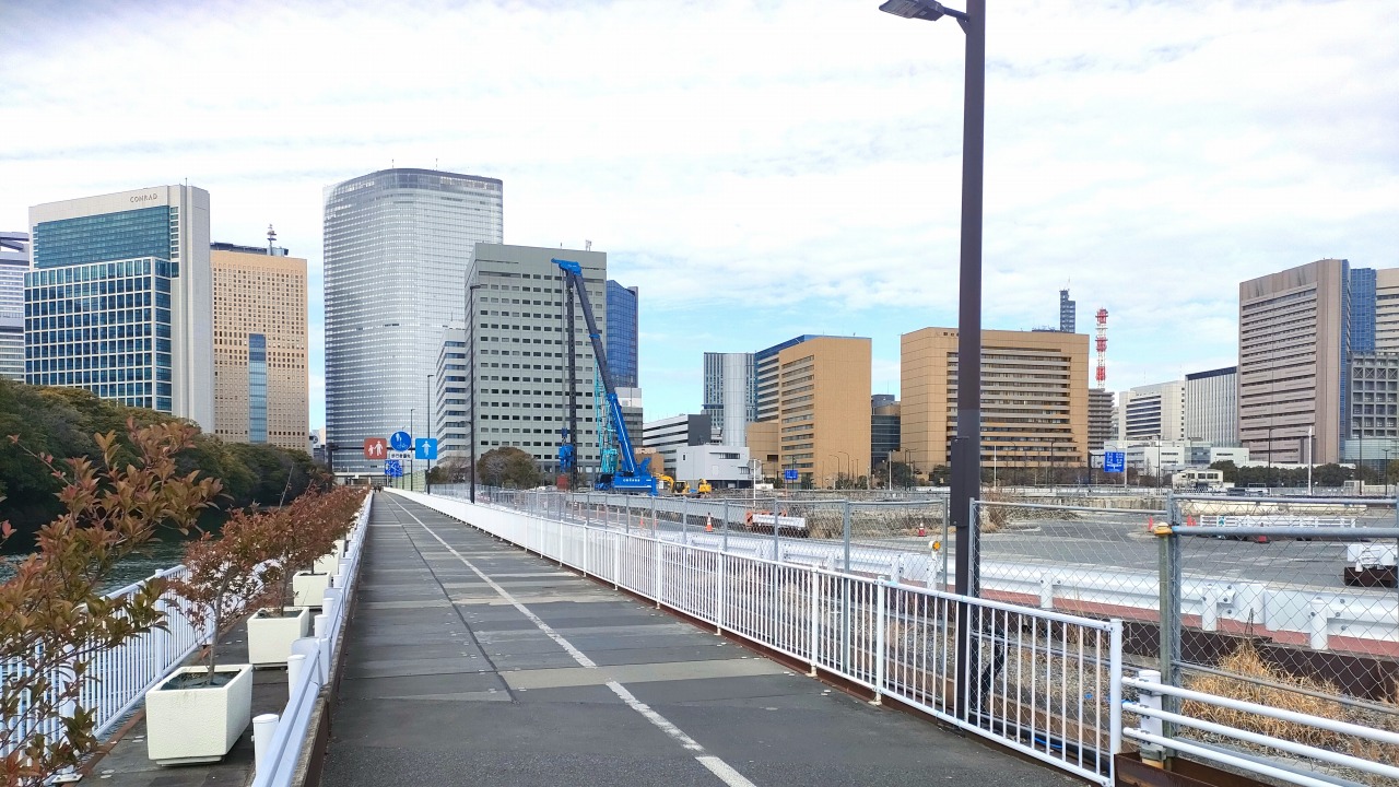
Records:
[[[1255,459],[1308,461],[1308,430],[1318,464],[1340,458],[1349,267],[1321,259],[1238,286],[1238,433]]]

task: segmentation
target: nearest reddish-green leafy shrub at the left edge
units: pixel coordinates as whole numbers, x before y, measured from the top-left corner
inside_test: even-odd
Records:
[[[197,429],[185,423],[139,427],[127,420],[127,445],[116,433],[95,434],[98,461],[29,454],[60,485],[63,513],[43,525],[36,552],[8,560],[0,585],[0,755],[6,783],[43,784],[91,752],[97,709],[83,704],[99,676],[92,658],[127,639],[164,627],[166,584],[106,598],[112,569],[147,545],[161,525],[182,532],[220,493],[220,482],[180,473],[175,457]],[[11,445],[22,447],[18,436]],[[123,462],[123,458],[130,457]],[[0,535],[11,534],[8,522]]]

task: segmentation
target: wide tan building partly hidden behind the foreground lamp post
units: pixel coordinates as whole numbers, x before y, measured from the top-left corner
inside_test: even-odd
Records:
[[[1083,466],[1088,459],[1088,336],[981,332],[982,466]],[[901,343],[902,443],[912,461],[949,464],[957,436],[957,329]]]

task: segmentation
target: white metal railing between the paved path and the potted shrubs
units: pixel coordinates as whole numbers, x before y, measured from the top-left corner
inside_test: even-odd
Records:
[[[292,643],[292,655],[287,660],[287,706],[280,714],[269,713],[253,720],[253,787],[287,787],[297,776],[302,742],[312,734],[316,699],[330,681],[332,665],[339,655],[336,648],[341,644],[340,634],[358,585],[372,501],[372,496],[365,497],[355,525],[346,536],[344,557],[326,590],[320,615],[315,618],[315,632]]]

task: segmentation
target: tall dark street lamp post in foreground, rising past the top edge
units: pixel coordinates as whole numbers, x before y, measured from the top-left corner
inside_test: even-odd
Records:
[[[953,441],[951,525],[957,531],[957,592],[979,595],[977,524],[971,504],[981,486],[981,232],[982,160],[986,132],[986,0],[967,0],[967,11],[953,11],[932,0],[888,0],[881,11],[911,20],[957,20],[967,34],[963,94],[961,262],[957,302],[957,437]],[[971,651],[971,620],[963,605],[957,625],[957,653]],[[968,660],[957,660],[957,716],[967,718]]]

